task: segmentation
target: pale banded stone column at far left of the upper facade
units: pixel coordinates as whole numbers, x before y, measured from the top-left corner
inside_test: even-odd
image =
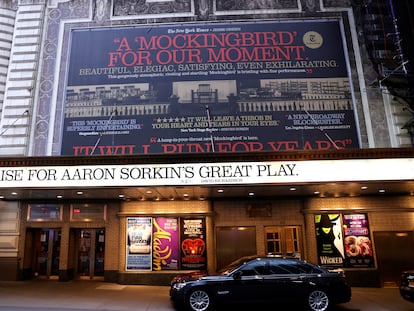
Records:
[[[0,156],[24,156],[29,144],[31,111],[42,42],[45,4],[21,1],[13,38],[0,119]],[[26,4],[26,2],[30,2]],[[12,22],[10,21],[10,27]]]

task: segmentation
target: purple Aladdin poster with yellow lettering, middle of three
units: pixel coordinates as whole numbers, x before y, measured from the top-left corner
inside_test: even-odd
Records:
[[[153,225],[153,270],[177,270],[180,255],[178,219],[157,217]]]

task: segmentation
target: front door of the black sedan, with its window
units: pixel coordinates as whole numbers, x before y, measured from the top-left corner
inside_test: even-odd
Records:
[[[255,302],[263,299],[263,273],[265,261],[250,261],[232,273],[231,280],[224,282],[217,294],[229,302]]]

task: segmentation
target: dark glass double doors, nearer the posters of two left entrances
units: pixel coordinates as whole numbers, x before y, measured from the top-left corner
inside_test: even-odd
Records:
[[[75,278],[103,277],[105,258],[104,229],[71,229],[69,261]]]

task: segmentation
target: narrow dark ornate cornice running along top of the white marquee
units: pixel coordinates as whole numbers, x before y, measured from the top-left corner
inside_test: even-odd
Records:
[[[212,163],[246,161],[312,161],[414,158],[414,148],[344,149],[322,151],[281,151],[260,153],[205,153],[205,154],[151,154],[112,156],[46,156],[0,158],[0,167],[24,166],[75,166],[105,164],[149,164],[149,163]]]

